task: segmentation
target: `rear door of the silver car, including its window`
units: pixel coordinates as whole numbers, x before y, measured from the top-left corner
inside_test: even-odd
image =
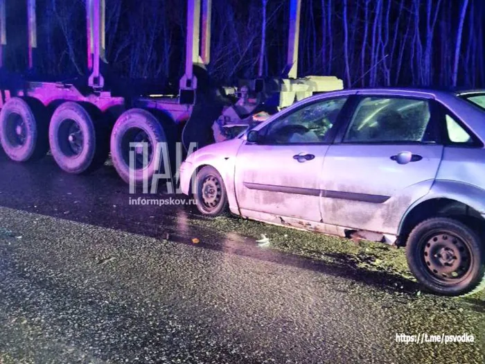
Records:
[[[395,234],[409,205],[430,191],[443,146],[432,98],[356,96],[325,157],[324,223]]]

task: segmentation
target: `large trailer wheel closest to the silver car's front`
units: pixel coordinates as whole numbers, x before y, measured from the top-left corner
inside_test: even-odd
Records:
[[[164,128],[158,119],[150,112],[142,109],[127,110],[116,120],[111,134],[111,156],[118,175],[130,183],[130,152],[132,158],[132,182],[141,184],[143,177],[148,177],[148,184],[152,176],[157,173],[159,166],[155,154],[157,144],[167,141]],[[130,144],[140,143],[132,149]],[[167,149],[168,150],[168,149]],[[162,161],[163,156],[158,159]],[[160,163],[163,166],[163,163]]]

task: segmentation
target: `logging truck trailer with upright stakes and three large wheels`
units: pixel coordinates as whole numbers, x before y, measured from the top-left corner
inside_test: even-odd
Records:
[[[39,82],[33,76],[8,73],[3,56],[8,44],[6,0],[0,0],[3,150],[17,162],[42,158],[50,150],[63,171],[75,174],[102,166],[110,153],[120,177],[137,183],[159,173],[155,159],[160,156],[155,156],[170,150],[155,148],[159,144],[182,142],[187,149],[221,141],[233,136],[229,130],[249,127],[258,112],[275,112],[314,92],[341,89],[342,80],[335,77],[297,78],[301,0],[290,1],[288,62],[283,77],[241,80],[237,87],[224,88],[213,85],[206,71],[211,0],[188,0],[185,73],[178,94],[163,96],[136,94],[130,86],[105,82],[105,0],[86,0],[87,79]],[[28,69],[33,70],[37,58],[35,0],[26,0],[26,6]],[[133,149],[136,142],[148,148]]]

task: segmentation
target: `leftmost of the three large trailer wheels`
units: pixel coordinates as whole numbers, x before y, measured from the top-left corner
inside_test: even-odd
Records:
[[[48,150],[48,115],[35,98],[13,97],[0,112],[0,141],[16,162],[37,160]]]

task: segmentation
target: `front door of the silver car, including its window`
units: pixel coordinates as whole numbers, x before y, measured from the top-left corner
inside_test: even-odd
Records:
[[[241,214],[254,212],[320,221],[321,169],[331,130],[347,96],[292,107],[264,125],[257,143],[245,141],[236,157]]]

